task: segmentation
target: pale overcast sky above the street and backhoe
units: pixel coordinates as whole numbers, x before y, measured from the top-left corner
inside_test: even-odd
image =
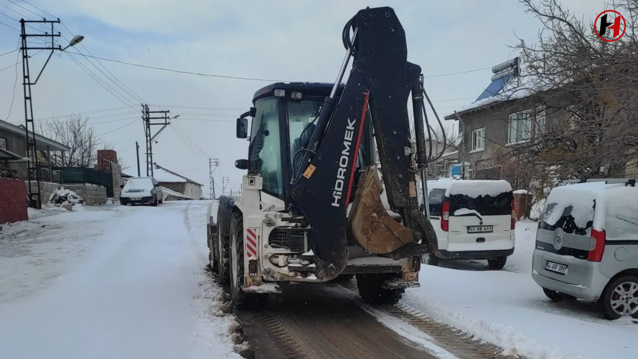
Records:
[[[539,28],[513,0],[0,0],[0,22],[19,28],[10,17],[50,18],[30,4],[59,17],[68,27],[58,27],[67,39],[70,32],[85,36],[84,47],[72,52],[188,72],[322,82],[333,81],[339,70],[345,22],[366,6],[392,6],[406,31],[408,59],[429,77],[426,90],[441,116],[473,102],[490,82],[489,68],[516,56],[508,45],[515,45],[517,36],[533,42]],[[595,19],[607,8],[600,0],[563,4],[585,19]],[[0,24],[0,54],[15,50],[18,42],[19,32]],[[66,45],[64,40],[61,44]],[[1,56],[0,69],[16,63],[17,55]],[[32,72],[46,56],[34,56]],[[222,176],[228,176],[228,188],[239,187],[243,171],[234,168],[234,160],[246,157],[248,142],[235,139],[235,118],[250,107],[256,89],[269,82],[74,56],[103,85],[70,56],[56,54],[33,86],[34,118],[86,113],[97,134],[109,132],[101,139],[115,145],[130,166],[124,172],[131,175],[137,175],[135,141],[140,142],[144,175],[140,103],[161,106],[180,117],[158,137],[154,161],[202,183],[208,194],[208,158],[219,158],[216,181],[221,186]],[[445,75],[482,68],[487,69]],[[16,70],[20,76],[20,66],[0,72],[0,119],[7,120],[10,113],[8,121],[24,123],[20,81],[14,91]]]

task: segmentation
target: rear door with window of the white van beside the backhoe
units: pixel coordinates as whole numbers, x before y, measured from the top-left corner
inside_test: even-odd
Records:
[[[498,195],[450,195],[452,252],[512,249],[512,191]]]

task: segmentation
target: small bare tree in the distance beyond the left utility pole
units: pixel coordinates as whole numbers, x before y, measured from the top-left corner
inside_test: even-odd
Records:
[[[67,116],[66,119],[49,119],[40,123],[40,133],[70,148],[63,157],[50,158],[59,167],[93,167],[96,149],[100,142],[95,128],[88,125],[89,118],[81,115]]]

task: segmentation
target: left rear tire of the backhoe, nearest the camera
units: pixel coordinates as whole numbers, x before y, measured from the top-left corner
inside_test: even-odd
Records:
[[[268,303],[266,293],[244,293],[244,225],[241,215],[230,224],[230,298],[237,309],[261,309]]]

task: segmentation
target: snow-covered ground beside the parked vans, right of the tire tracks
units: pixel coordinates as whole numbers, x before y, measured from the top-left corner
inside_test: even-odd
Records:
[[[531,279],[536,226],[517,224],[503,271],[487,271],[486,261],[422,266],[421,287],[408,289],[403,305],[532,359],[635,359],[637,324],[607,321],[589,303],[553,303]]]

